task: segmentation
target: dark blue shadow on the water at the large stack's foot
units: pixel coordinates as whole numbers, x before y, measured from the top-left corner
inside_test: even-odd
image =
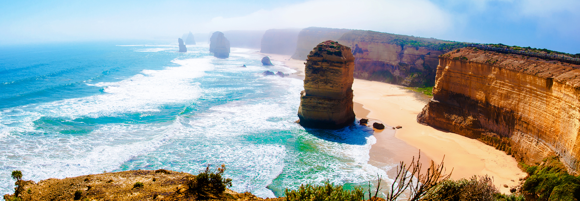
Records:
[[[355,125],[342,127],[341,129],[312,129],[304,127],[307,133],[314,137],[331,142],[351,145],[367,144],[367,137],[372,136],[372,127]]]

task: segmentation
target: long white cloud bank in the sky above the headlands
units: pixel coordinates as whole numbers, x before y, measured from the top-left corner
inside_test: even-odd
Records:
[[[433,35],[448,31],[452,27],[450,19],[427,0],[314,0],[241,17],[215,17],[204,27],[207,30],[329,27]]]

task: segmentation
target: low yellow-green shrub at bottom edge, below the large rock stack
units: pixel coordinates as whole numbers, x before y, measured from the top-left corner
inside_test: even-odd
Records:
[[[300,200],[335,200],[335,201],[360,201],[364,194],[361,188],[355,188],[348,191],[342,188],[341,185],[333,185],[330,182],[324,182],[324,185],[301,185],[298,191],[285,191],[285,201],[300,201]]]

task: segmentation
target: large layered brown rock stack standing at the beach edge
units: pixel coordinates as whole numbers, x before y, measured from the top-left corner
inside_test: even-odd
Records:
[[[338,42],[318,44],[306,59],[298,117],[305,127],[335,129],[354,122],[354,56]]]

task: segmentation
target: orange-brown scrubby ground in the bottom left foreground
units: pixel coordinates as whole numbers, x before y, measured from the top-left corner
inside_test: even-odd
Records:
[[[23,200],[196,200],[184,193],[187,177],[193,175],[168,170],[131,170],[117,173],[90,174],[64,179],[49,178],[26,181]],[[135,187],[141,182],[143,187]],[[77,199],[75,192],[79,191]],[[5,196],[5,198],[8,198]],[[208,200],[263,200],[251,193],[226,189],[221,196]],[[280,199],[266,199],[280,200]]]

